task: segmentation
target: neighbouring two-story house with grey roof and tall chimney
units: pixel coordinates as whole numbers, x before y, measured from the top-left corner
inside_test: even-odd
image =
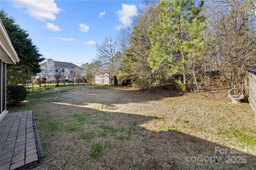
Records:
[[[41,73],[36,78],[46,78],[47,81],[54,82],[54,73],[58,69],[61,72],[62,81],[78,81],[82,82],[84,77],[84,69],[73,63],[58,62],[48,58],[46,62],[41,63]]]

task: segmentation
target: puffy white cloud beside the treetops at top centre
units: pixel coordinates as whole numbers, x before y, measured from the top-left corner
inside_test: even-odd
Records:
[[[135,5],[122,4],[122,10],[118,10],[117,12],[119,21],[125,27],[128,27],[132,23],[132,17],[137,15],[137,7]]]

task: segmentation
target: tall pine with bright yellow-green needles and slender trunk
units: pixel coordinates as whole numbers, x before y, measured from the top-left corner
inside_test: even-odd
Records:
[[[196,7],[191,0],[163,0],[157,5],[158,24],[149,31],[150,67],[159,71],[166,64],[170,74],[182,71],[185,86],[188,62],[195,62],[203,50],[204,23],[199,16],[203,4],[201,1]]]

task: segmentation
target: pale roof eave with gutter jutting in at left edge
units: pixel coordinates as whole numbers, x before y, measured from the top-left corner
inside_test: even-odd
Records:
[[[1,19],[0,19],[0,48],[1,48],[0,58],[5,63],[15,64],[16,62],[20,61],[14,47],[12,46],[10,37],[6,32]]]

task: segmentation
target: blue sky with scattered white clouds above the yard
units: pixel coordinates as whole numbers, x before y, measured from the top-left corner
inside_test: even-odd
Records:
[[[45,58],[91,62],[95,43],[129,26],[143,1],[1,1]]]

